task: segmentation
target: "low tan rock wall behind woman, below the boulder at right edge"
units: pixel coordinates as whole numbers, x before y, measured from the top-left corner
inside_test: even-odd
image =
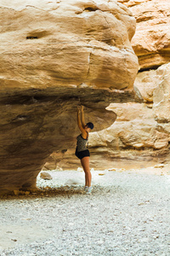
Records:
[[[91,167],[95,170],[143,168],[167,159],[170,125],[158,124],[152,108],[134,102],[111,103],[108,108],[117,118],[111,127],[90,133]],[[58,166],[63,169],[80,166],[74,152],[70,150]]]

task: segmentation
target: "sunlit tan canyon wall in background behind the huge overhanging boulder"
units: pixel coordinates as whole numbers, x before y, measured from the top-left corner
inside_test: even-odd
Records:
[[[118,2],[126,5],[137,20],[132,45],[139,58],[139,73],[134,88],[144,102],[111,103],[108,109],[116,113],[116,122],[90,136],[91,166],[97,169],[140,167],[170,159],[170,2]],[[44,169],[79,164],[73,152],[62,157],[59,162],[52,154]]]

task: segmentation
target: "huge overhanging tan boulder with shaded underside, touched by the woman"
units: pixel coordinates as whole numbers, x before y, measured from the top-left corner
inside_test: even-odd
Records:
[[[49,154],[75,148],[77,105],[95,130],[134,101],[132,13],[112,0],[0,1],[0,193],[33,189]]]

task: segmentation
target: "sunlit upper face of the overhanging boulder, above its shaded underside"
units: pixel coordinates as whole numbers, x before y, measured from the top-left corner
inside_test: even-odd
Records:
[[[83,84],[133,89],[138,60],[127,8],[114,0],[29,3],[1,3],[4,90]]]

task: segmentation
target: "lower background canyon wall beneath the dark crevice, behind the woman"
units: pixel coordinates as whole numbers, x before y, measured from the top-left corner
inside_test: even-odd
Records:
[[[146,104],[128,102],[110,105],[108,109],[116,113],[116,122],[110,128],[90,135],[91,166],[105,169],[117,164],[120,167],[124,163],[125,167],[138,167],[168,160],[169,73],[170,64],[165,64],[157,70],[137,75],[135,86]],[[65,169],[80,166],[74,150],[65,154],[58,166]]]

